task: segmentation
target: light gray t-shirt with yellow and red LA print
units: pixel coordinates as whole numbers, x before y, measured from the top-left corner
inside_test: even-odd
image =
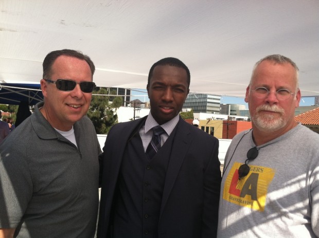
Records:
[[[257,147],[250,173],[238,180],[255,144],[252,131],[237,135],[224,163],[218,237],[319,236],[318,145],[319,135],[298,124]]]

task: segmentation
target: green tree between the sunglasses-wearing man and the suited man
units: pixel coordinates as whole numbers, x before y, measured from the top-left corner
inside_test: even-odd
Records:
[[[101,87],[98,91],[94,91],[94,94],[107,95],[109,93],[107,89]],[[110,94],[115,95],[116,93],[111,91]],[[87,116],[93,122],[97,134],[108,134],[111,127],[118,122],[116,109],[122,103],[122,97],[113,96],[110,99],[110,96],[92,96]]]

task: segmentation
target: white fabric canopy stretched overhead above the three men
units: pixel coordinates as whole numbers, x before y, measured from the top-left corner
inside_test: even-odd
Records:
[[[319,95],[319,1],[2,0],[0,83],[39,83],[49,51],[94,61],[98,86],[146,88],[165,57],[190,69],[190,91],[243,97],[253,65],[291,58],[303,96]]]

